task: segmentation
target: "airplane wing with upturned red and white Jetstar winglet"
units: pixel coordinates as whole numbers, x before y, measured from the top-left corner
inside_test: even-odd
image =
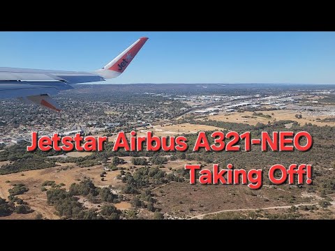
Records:
[[[140,38],[110,63],[92,73],[62,70],[0,68],[0,98],[19,98],[24,102],[61,111],[49,94],[73,89],[71,84],[105,81],[119,77],[133,61],[148,38]]]

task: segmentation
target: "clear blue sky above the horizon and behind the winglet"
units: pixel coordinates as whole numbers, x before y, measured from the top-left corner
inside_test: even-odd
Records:
[[[0,66],[96,70],[149,40],[113,84],[335,84],[335,32],[0,32]]]

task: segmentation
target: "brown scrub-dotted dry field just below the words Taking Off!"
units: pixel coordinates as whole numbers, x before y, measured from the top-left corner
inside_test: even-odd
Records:
[[[170,183],[155,190],[156,199],[164,213],[176,218],[244,208],[266,208],[311,203],[312,198],[302,198],[301,191],[275,189],[263,186],[250,190],[246,185],[190,185]]]

